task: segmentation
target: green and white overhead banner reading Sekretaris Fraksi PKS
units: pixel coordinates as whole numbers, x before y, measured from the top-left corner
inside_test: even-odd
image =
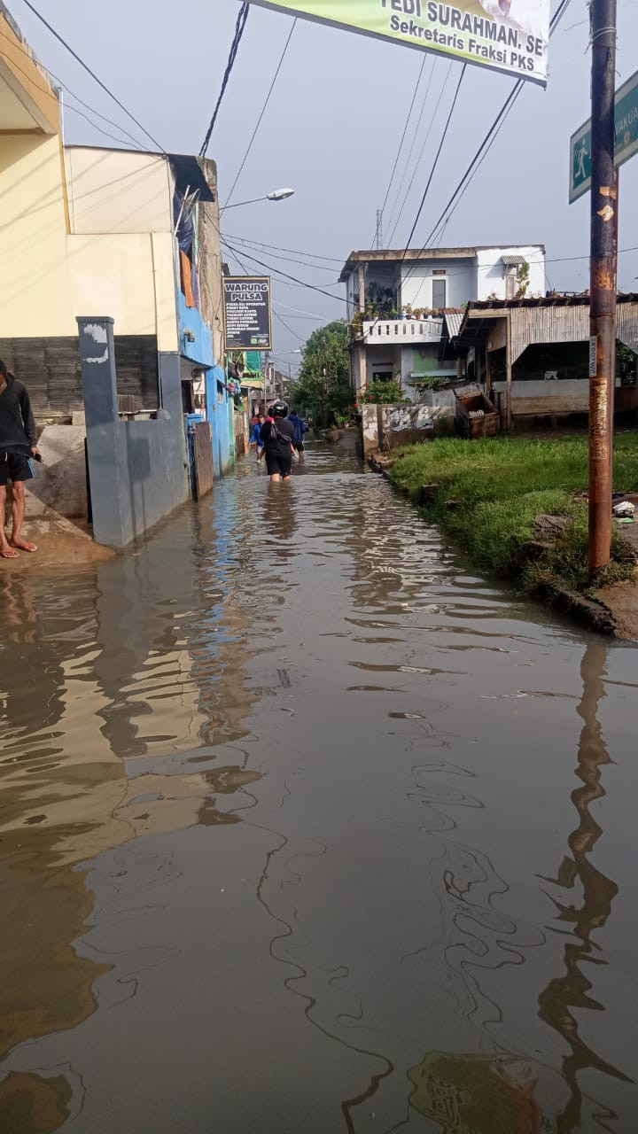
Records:
[[[252,0],[351,32],[547,83],[549,0]]]

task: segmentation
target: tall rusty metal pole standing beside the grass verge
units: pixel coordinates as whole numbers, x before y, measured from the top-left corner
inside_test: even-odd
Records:
[[[589,570],[612,543],[616,260],[614,88],[616,0],[591,0],[591,252],[589,315]]]

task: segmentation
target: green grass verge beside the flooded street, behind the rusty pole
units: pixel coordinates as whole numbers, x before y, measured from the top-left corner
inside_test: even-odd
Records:
[[[631,548],[614,533],[612,561],[591,578],[587,569],[587,438],[482,441],[440,438],[395,450],[393,482],[415,502],[436,485],[427,514],[462,543],[485,572],[507,576],[520,590],[561,583],[585,594],[631,578]],[[638,491],[638,431],[614,441],[614,486]],[[539,514],[569,517],[552,539],[536,527]]]

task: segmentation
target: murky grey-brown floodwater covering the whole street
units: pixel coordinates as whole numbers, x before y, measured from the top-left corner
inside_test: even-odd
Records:
[[[638,651],[353,457],[0,575],[2,1134],[638,1125]]]

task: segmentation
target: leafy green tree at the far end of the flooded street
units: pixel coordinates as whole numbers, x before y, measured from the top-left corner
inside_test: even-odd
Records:
[[[292,401],[321,425],[343,421],[344,411],[354,400],[345,321],[338,319],[313,331],[302,354],[299,379],[291,388]]]

